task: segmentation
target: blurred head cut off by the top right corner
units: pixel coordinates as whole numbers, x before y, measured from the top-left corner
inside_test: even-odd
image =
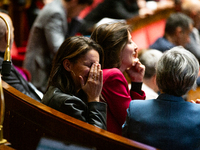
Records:
[[[194,27],[200,30],[200,1],[184,0],[181,4],[183,13],[188,15],[194,21]]]

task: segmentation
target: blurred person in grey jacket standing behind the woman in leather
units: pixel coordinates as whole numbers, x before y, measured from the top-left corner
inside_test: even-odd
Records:
[[[24,68],[31,82],[42,92],[46,90],[52,59],[62,42],[73,36],[81,21],[77,16],[93,0],[53,0],[43,7],[31,28]]]

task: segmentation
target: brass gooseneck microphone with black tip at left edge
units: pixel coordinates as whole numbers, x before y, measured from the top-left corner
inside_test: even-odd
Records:
[[[0,18],[3,19],[3,21],[6,24],[7,30],[8,30],[8,39],[7,39],[7,47],[4,54],[4,61],[2,63],[2,71],[1,74],[4,76],[10,75],[11,70],[11,56],[10,56],[10,26],[8,22],[0,15]]]

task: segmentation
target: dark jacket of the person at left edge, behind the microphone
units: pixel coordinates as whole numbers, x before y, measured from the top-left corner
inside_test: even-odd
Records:
[[[0,52],[0,71],[2,70],[3,57],[4,53]],[[41,98],[35,92],[35,89],[22,77],[22,75],[15,69],[13,65],[11,65],[10,75],[2,76],[2,80],[27,96],[37,101],[41,101]]]

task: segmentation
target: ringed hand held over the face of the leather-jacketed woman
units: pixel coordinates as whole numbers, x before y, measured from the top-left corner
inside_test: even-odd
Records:
[[[94,63],[90,69],[90,73],[86,84],[80,76],[81,87],[88,96],[88,102],[99,102],[99,96],[103,87],[103,72],[99,63]]]

